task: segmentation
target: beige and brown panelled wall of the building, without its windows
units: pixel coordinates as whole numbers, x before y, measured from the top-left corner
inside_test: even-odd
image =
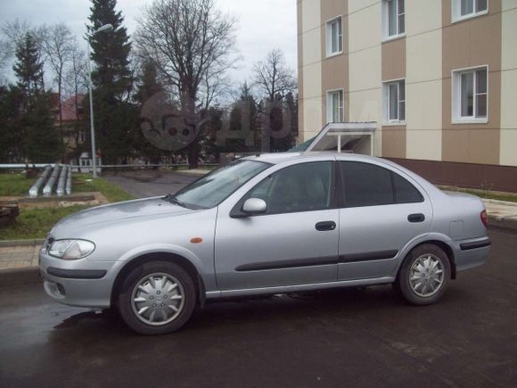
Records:
[[[517,0],[451,22],[452,0],[406,0],[406,34],[382,42],[381,0],[298,0],[300,141],[326,123],[326,91],[344,119],[378,122],[379,156],[517,166]],[[326,58],[325,22],[342,16],[343,54]],[[454,124],[451,72],[488,65],[488,122]],[[405,78],[406,123],[384,125],[382,81]]]

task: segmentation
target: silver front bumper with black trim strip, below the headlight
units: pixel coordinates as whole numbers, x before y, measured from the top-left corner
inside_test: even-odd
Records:
[[[62,260],[39,252],[45,292],[70,306],[109,308],[118,267],[115,261]]]

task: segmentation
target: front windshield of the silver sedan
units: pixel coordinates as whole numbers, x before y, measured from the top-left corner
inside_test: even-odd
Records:
[[[165,200],[194,209],[217,206],[239,187],[271,165],[263,161],[234,161],[196,180]]]

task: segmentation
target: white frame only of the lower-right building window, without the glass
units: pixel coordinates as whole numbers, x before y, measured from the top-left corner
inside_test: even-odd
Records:
[[[483,93],[476,93],[476,70],[487,70],[487,92],[484,95],[487,95],[487,116],[486,117],[476,117],[477,116],[477,95],[483,95]],[[462,116],[461,115],[461,107],[462,107],[462,94],[461,94],[461,76],[464,73],[473,72],[473,116]],[[489,107],[489,95],[488,95],[488,87],[489,87],[489,71],[488,65],[481,66],[473,66],[470,68],[464,69],[455,69],[451,72],[451,101],[452,101],[452,123],[453,124],[486,124],[488,123],[488,107]]]

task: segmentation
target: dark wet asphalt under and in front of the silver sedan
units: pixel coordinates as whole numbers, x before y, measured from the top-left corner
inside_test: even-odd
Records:
[[[437,305],[390,286],[209,304],[176,334],[0,289],[0,386],[515,386],[517,235]]]

